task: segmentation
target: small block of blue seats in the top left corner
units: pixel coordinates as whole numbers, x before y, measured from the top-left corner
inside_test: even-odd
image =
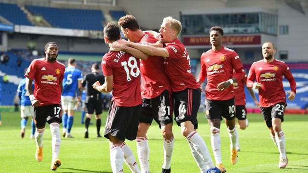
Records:
[[[33,25],[31,22],[29,22],[27,16],[21,10],[21,8],[16,4],[0,3],[0,16],[14,24],[30,26]]]

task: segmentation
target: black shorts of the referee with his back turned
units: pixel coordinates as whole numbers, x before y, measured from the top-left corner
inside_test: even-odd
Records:
[[[94,110],[96,115],[101,114],[103,112],[102,104],[103,99],[100,94],[86,96],[86,112],[88,114],[93,114]]]

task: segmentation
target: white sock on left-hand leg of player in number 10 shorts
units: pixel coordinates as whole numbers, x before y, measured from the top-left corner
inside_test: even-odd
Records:
[[[211,128],[211,145],[216,164],[222,163],[220,152],[220,129],[215,127]]]

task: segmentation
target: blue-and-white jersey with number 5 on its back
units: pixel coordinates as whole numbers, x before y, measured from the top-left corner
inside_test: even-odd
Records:
[[[78,80],[82,80],[81,71],[73,66],[67,66],[62,82],[62,95],[75,97],[78,91]]]

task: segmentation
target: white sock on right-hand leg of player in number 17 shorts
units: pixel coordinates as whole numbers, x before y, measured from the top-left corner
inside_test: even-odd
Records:
[[[59,157],[59,150],[61,145],[60,137],[60,124],[51,123],[49,125],[51,132],[51,148],[52,148],[52,161]]]

